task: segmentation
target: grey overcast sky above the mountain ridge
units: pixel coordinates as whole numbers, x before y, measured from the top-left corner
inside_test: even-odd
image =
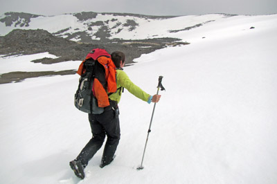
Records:
[[[0,0],[0,15],[4,12],[62,15],[83,11],[143,15],[269,15],[277,13],[277,0]]]

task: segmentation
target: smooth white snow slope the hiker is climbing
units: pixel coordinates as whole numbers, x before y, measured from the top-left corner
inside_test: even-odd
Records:
[[[174,33],[190,45],[156,50],[125,68],[150,94],[159,75],[166,87],[141,171],[153,104],[125,90],[116,159],[100,169],[100,149],[80,181],[69,161],[91,133],[87,115],[73,106],[78,76],[1,84],[0,183],[277,183],[276,23],[277,15],[214,21]]]

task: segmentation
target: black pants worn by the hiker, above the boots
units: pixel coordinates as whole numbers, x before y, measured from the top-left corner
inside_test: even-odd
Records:
[[[113,160],[116,147],[120,139],[120,126],[118,114],[114,109],[104,111],[101,114],[89,113],[89,123],[91,125],[92,138],[87,145],[82,149],[77,157],[84,167],[87,166],[89,160],[102,147],[102,144],[107,135],[105,149],[102,154],[102,165],[108,165]]]

